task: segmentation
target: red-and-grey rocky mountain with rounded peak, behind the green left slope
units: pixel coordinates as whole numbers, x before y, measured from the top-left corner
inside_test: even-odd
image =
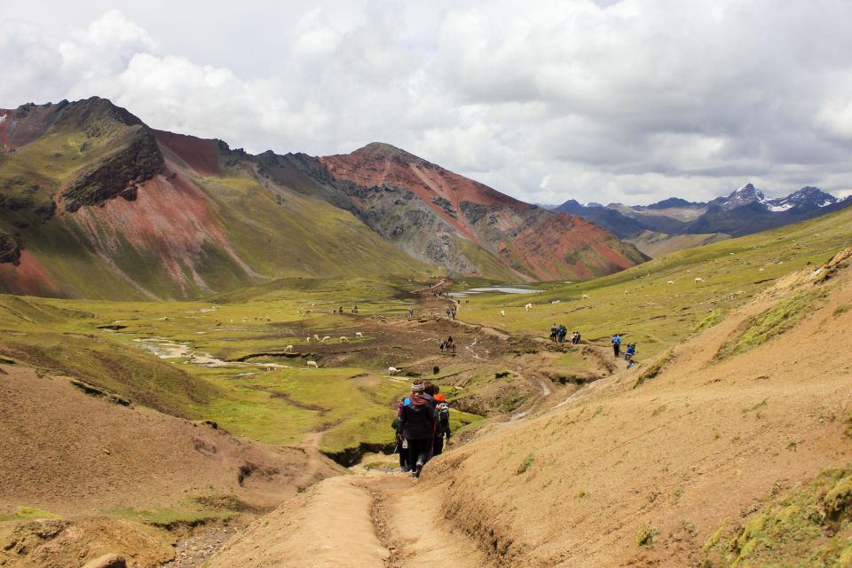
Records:
[[[517,201],[394,146],[374,143],[316,159],[268,157],[266,163],[278,171],[296,164],[313,181],[313,194],[351,210],[410,255],[454,274],[588,278],[646,260],[580,217]]]

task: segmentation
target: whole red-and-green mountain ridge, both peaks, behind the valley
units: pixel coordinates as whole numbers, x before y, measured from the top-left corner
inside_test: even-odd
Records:
[[[288,277],[413,278],[430,264],[532,280],[643,260],[580,217],[392,146],[252,156],[97,97],[0,110],[0,292],[191,298]]]

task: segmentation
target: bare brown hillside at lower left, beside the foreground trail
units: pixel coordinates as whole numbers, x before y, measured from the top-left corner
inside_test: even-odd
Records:
[[[315,452],[122,406],[8,361],[0,385],[4,566],[67,568],[108,553],[159,566],[176,553],[170,529],[256,517],[340,473]]]

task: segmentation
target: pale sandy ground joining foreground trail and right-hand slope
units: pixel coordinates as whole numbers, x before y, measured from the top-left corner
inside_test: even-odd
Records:
[[[720,525],[852,456],[848,269],[819,288],[826,297],[769,343],[712,361],[750,315],[793,288],[682,343],[641,387],[648,363],[548,412],[492,424],[430,462],[419,482],[327,480],[211,566],[698,564]],[[643,532],[657,533],[651,547],[637,545]]]

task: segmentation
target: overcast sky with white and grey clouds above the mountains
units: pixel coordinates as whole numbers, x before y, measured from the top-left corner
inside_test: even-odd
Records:
[[[389,142],[525,201],[852,193],[847,0],[4,5],[0,107],[99,95],[251,152]]]

